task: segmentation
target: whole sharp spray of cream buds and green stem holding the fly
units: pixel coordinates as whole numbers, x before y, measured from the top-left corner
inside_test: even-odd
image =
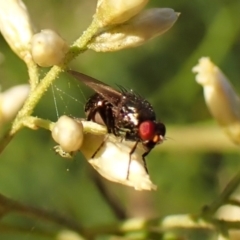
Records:
[[[143,10],[147,3],[148,0],[98,0],[91,25],[69,47],[53,30],[45,29],[35,33],[22,0],[0,0],[0,31],[12,50],[26,63],[30,76],[31,92],[23,106],[24,111],[19,112],[22,115],[16,118],[18,127],[13,127],[15,131],[22,126],[33,126],[32,122],[27,123],[27,117],[30,118],[52,81],[81,51],[91,49],[109,52],[136,47],[173,26],[178,13],[169,8]],[[40,80],[39,66],[55,67],[46,78]],[[0,95],[0,122],[6,122],[16,115],[28,93],[29,86],[24,86]],[[135,142],[106,134],[104,127],[103,133],[100,130],[101,134],[95,134],[99,127],[95,124],[89,131],[91,124],[67,116],[60,117],[53,127],[49,127],[53,139],[59,144],[55,150],[64,157],[71,157],[80,150],[105,178],[137,190],[155,189],[144,166],[141,144],[129,158]]]

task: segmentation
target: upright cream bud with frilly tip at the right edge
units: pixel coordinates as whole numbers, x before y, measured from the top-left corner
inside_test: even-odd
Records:
[[[231,83],[209,58],[203,57],[193,68],[196,81],[203,86],[205,102],[212,116],[237,144],[240,144],[240,99]]]

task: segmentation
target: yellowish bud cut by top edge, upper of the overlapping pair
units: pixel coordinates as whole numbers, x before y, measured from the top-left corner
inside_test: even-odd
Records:
[[[119,24],[139,13],[148,0],[98,0],[95,18],[100,27]]]

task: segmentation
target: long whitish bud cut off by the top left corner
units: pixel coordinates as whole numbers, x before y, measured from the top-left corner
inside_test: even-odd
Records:
[[[0,0],[0,31],[11,49],[28,62],[33,26],[21,0]]]

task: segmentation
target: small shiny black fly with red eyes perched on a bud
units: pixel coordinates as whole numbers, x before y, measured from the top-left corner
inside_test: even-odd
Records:
[[[165,125],[156,120],[152,105],[132,90],[119,86],[117,91],[83,73],[72,70],[68,73],[96,92],[85,105],[87,120],[105,125],[108,133],[136,142],[129,153],[127,178],[131,155],[139,142],[145,149],[142,159],[148,172],[145,157],[156,144],[163,142],[166,133]]]

